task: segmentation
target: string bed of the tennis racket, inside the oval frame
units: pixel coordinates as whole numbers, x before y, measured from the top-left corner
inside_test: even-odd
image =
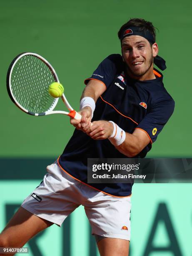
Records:
[[[43,113],[53,104],[48,93],[55,77],[47,65],[33,55],[23,56],[12,70],[11,87],[17,102],[33,113]]]

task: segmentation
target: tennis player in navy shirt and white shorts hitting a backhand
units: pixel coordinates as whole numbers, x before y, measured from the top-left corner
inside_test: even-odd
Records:
[[[172,115],[174,100],[153,67],[166,68],[155,35],[143,19],[120,28],[122,55],[108,56],[85,80],[82,119],[70,120],[76,129],[64,152],[2,231],[0,247],[24,246],[83,205],[100,255],[128,255],[132,184],[87,184],[87,158],[145,157]]]

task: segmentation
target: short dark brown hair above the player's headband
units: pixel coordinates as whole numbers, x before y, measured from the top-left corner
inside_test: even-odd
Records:
[[[133,18],[127,21],[124,25],[121,26],[119,32],[118,32],[118,38],[120,39],[121,33],[123,30],[125,30],[127,27],[139,27],[140,31],[146,31],[150,32],[154,38],[154,41],[156,41],[156,31],[155,27],[150,21],[140,19],[140,18]],[[150,43],[151,44],[151,43]]]

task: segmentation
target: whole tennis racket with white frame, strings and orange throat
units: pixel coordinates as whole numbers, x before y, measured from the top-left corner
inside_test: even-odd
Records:
[[[59,79],[51,64],[31,52],[17,55],[7,71],[7,92],[22,111],[35,116],[64,114],[80,120],[81,115],[71,107],[64,94],[61,99],[69,112],[53,111],[59,98],[53,98],[48,92],[52,82],[59,83]]]

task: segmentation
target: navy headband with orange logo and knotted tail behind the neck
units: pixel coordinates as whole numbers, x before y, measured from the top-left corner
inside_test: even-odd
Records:
[[[127,28],[125,28],[125,30],[123,30],[122,33],[120,34],[121,43],[122,43],[122,40],[126,36],[142,36],[145,39],[147,39],[151,44],[155,43],[155,38],[152,35],[152,33],[150,33],[150,31],[144,31],[144,30],[141,31],[140,27],[127,27]],[[161,70],[165,70],[167,68],[166,64],[165,64],[165,60],[162,57],[158,56],[158,55],[154,58],[154,63]]]

